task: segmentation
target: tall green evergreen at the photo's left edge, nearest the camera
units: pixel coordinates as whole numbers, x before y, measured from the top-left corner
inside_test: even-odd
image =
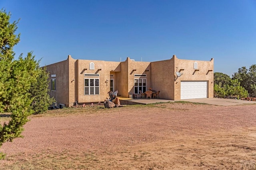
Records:
[[[15,35],[18,22],[10,23],[10,13],[0,10],[0,113],[11,113],[10,121],[0,124],[0,147],[21,137],[23,125],[32,114],[29,89],[38,75],[38,62],[32,53],[14,60],[13,47],[20,41]],[[0,159],[4,154],[0,152]]]

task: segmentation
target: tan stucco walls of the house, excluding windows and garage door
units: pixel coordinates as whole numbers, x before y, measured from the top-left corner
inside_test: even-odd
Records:
[[[94,70],[90,70],[90,63],[94,63]],[[194,62],[198,68],[194,69]],[[180,99],[180,81],[208,81],[208,97],[213,97],[214,60],[196,61],[178,59],[175,55],[164,61],[142,62],[133,61],[127,57],[126,61],[99,61],[73,59],[70,55],[65,61],[47,65],[51,74],[56,74],[56,91],[50,91],[50,96],[55,97],[58,104],[66,107],[78,103],[104,101],[110,90],[110,79],[114,79],[114,89],[118,90],[119,96],[129,97],[134,93],[134,79],[146,78],[146,89],[152,87],[154,91],[160,91],[162,99]],[[196,70],[196,71],[195,71]],[[176,81],[175,72],[179,71],[182,76]],[[84,74],[99,74],[99,77]],[[110,77],[110,74],[114,77]],[[134,77],[135,74],[146,74],[146,77]],[[97,78],[100,80],[99,95],[84,95],[84,79]],[[51,79],[51,77],[50,77]],[[51,83],[49,83],[51,89]]]

